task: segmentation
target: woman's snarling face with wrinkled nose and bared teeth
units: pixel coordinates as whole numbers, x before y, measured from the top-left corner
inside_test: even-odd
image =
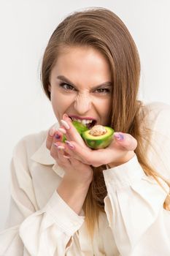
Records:
[[[88,127],[109,124],[111,73],[107,59],[98,50],[66,48],[51,71],[49,91],[59,123],[66,113]]]

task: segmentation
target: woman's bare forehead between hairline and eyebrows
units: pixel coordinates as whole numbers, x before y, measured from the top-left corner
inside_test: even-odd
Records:
[[[111,80],[106,57],[90,47],[70,47],[61,51],[51,75],[63,75],[72,82],[102,83]]]

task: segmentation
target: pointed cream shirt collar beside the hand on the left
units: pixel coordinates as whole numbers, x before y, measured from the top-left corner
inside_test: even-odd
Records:
[[[64,170],[58,166],[55,162],[55,159],[51,157],[50,151],[46,148],[46,139],[47,139],[47,132],[45,136],[45,140],[43,141],[42,145],[34,152],[31,156],[31,160],[38,162],[41,165],[53,165],[53,170],[58,176],[63,177]]]

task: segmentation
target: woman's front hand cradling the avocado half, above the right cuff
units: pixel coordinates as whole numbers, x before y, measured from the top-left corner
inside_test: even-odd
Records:
[[[63,121],[66,123],[64,124]],[[115,167],[128,162],[134,157],[137,142],[131,135],[123,132],[115,132],[112,143],[107,148],[93,150],[85,145],[81,136],[72,125],[70,118],[63,115],[63,121],[62,124],[67,138],[64,151],[66,154],[69,154],[70,159],[74,158],[85,165],[93,165],[94,167],[100,165]],[[61,143],[58,143],[58,146],[61,146]]]

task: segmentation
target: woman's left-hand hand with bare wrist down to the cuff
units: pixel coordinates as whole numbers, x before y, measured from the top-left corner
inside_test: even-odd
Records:
[[[63,127],[61,127],[61,131],[62,129]],[[66,204],[75,213],[80,214],[93,178],[93,170],[90,165],[82,163],[79,159],[69,157],[69,154],[65,152],[66,143],[62,143],[62,139],[62,133],[57,131],[55,127],[52,127],[48,132],[46,140],[46,146],[50,150],[50,155],[65,171],[61,183],[56,190]]]

